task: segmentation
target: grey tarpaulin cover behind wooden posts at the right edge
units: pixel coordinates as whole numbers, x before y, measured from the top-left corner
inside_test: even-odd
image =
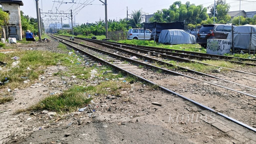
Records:
[[[256,46],[256,25],[243,25],[234,27],[234,48],[248,50],[250,46],[250,36],[252,27],[251,50]],[[232,39],[232,32],[227,39]]]

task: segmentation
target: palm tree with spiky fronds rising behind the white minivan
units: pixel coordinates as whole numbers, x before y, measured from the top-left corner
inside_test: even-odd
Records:
[[[142,22],[141,10],[132,11],[132,18],[128,20],[127,25],[132,28],[140,28]]]

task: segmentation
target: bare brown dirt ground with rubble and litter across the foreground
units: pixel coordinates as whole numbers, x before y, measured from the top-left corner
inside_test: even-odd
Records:
[[[56,48],[57,44],[58,42],[33,43],[17,47],[62,52]],[[214,122],[202,119],[207,112],[204,109],[140,82],[131,84],[129,89],[122,89],[121,97],[95,96],[95,104],[87,106],[88,109],[84,112],[75,111],[65,115],[52,115],[42,111],[16,114],[16,110],[27,108],[53,92],[61,92],[74,84],[83,83],[76,78],[52,75],[59,70],[66,71],[67,67],[48,67],[35,81],[35,84],[41,84],[39,87],[12,91],[15,100],[0,105],[0,143],[256,143],[255,133],[209,113],[207,120],[225,123],[223,125],[230,129],[232,127],[232,130],[225,132],[213,125]],[[255,99],[248,101],[246,96],[236,97],[238,94],[185,77],[137,70],[131,71],[226,112],[251,126],[255,125]],[[97,83],[97,80],[87,82]],[[228,96],[225,95],[226,92]],[[248,102],[252,104],[248,105]],[[216,105],[217,103],[219,104]],[[227,105],[233,105],[233,110]],[[244,110],[246,118],[242,117]]]

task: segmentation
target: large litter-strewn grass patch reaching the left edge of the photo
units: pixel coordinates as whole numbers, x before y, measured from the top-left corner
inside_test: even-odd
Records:
[[[18,64],[19,68],[12,67],[14,60],[11,58],[14,56],[20,57],[20,59],[18,59],[18,61],[20,61]],[[71,63],[70,60],[74,63]],[[0,71],[0,81],[4,82],[9,80],[9,83],[0,86],[0,89],[6,87],[10,87],[11,89],[24,88],[28,84],[23,83],[25,79],[21,77],[28,77],[30,81],[33,81],[37,79],[40,74],[44,73],[44,69],[47,66],[54,66],[57,63],[67,66],[71,73],[74,73],[73,75],[77,76],[77,78],[87,79],[90,77],[90,71],[84,70],[85,67],[77,64],[79,63],[77,57],[69,56],[68,54],[59,54],[40,50],[22,50],[8,54],[0,53],[0,61],[7,63],[6,67],[2,67],[3,70]],[[31,70],[27,70],[27,67]],[[81,76],[81,74],[84,74],[84,76]]]

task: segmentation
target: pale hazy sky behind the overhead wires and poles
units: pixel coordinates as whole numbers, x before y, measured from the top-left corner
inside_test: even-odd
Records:
[[[20,9],[25,13],[36,18],[36,5],[35,0],[22,0],[24,6],[20,6]],[[93,4],[87,5],[85,7],[81,4],[61,4],[58,2],[77,2],[84,4]],[[104,1],[104,0],[102,0]],[[142,11],[148,14],[153,14],[157,10],[163,8],[169,8],[174,1],[170,0],[108,0],[108,19],[118,19],[126,17],[126,7],[128,6],[128,13],[130,14],[133,10],[138,10],[142,8]],[[182,3],[186,3],[187,0],[181,0]],[[251,0],[255,2],[245,2],[241,1],[241,10],[247,11],[256,11],[256,0]],[[41,5],[42,3],[42,5]],[[214,0],[190,0],[190,3],[195,3],[196,5],[203,4],[204,7],[207,7],[214,3]],[[227,3],[230,4],[230,11],[239,11],[239,0],[227,0]],[[39,0],[39,6],[42,8],[43,12],[56,12],[56,7],[58,11],[66,11],[69,13],[69,9],[72,9],[73,15],[76,18],[76,23],[89,23],[99,21],[105,18],[105,9],[102,3],[99,0]],[[83,7],[83,8],[82,8]],[[75,10],[77,8],[77,10]],[[81,9],[82,8],[82,9]],[[78,11],[81,9],[80,11]],[[64,22],[63,22],[64,23]],[[65,21],[68,23],[68,20]]]

